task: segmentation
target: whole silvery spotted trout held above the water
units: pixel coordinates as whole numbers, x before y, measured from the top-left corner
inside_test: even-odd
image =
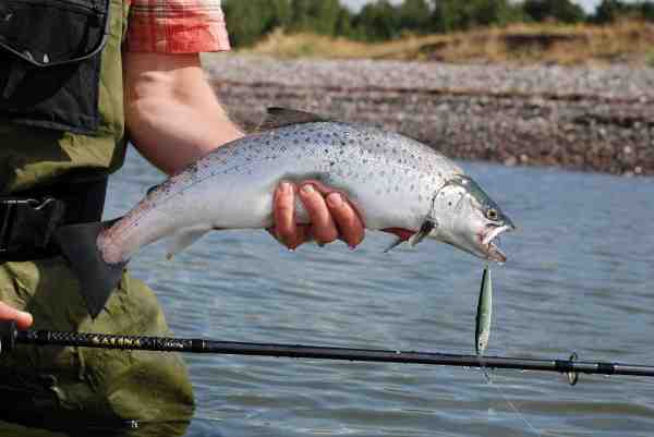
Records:
[[[257,131],[149,190],[123,217],[64,226],[56,239],[95,317],[143,246],[171,238],[171,257],[213,230],[269,228],[278,184],[307,180],[346,194],[366,229],[395,233],[398,243],[432,239],[507,259],[495,240],[512,221],[444,155],[377,125],[286,108],[268,109]],[[295,210],[299,223],[310,221],[300,199]]]

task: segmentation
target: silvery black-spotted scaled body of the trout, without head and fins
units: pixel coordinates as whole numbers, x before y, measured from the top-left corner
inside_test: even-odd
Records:
[[[366,228],[416,231],[434,193],[462,171],[434,149],[370,125],[303,123],[217,148],[153,190],[98,240],[108,262],[174,230],[267,228],[282,180],[343,191]],[[298,221],[307,222],[298,201]]]

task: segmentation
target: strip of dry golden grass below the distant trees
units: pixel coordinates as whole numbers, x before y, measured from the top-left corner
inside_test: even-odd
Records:
[[[640,21],[621,21],[609,26],[520,24],[448,35],[407,36],[378,44],[277,31],[254,48],[241,51],[280,58],[654,66],[654,24]]]

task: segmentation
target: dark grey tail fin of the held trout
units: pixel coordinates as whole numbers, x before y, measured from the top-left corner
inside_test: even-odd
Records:
[[[98,234],[116,220],[69,224],[56,231],[57,243],[80,280],[86,308],[96,318],[118,286],[128,262],[108,264],[97,246]]]

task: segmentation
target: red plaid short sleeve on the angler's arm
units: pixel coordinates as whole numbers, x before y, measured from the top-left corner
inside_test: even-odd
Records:
[[[199,53],[230,49],[220,0],[132,0],[126,51]]]

